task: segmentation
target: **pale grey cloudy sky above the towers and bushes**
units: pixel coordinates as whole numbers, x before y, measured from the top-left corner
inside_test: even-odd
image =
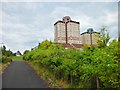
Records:
[[[13,52],[30,50],[46,39],[53,41],[54,23],[66,15],[80,22],[80,33],[88,28],[99,32],[102,26],[107,26],[111,38],[118,37],[117,2],[3,1],[0,3],[0,37]]]

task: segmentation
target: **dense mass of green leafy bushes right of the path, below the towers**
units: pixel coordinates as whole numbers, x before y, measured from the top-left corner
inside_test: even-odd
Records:
[[[104,35],[98,47],[83,47],[82,51],[64,49],[45,40],[27,51],[23,59],[44,67],[69,87],[120,88],[118,41],[113,40],[107,46],[108,39],[109,35]]]

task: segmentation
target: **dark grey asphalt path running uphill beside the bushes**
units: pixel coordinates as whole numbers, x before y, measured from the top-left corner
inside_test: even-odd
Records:
[[[2,76],[3,88],[48,88],[25,61],[13,61]]]

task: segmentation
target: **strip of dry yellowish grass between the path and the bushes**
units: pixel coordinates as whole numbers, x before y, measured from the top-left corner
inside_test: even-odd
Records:
[[[43,79],[45,80],[50,88],[68,88],[69,85],[67,82],[63,80],[57,80],[54,75],[49,72],[44,67],[39,66],[38,64],[35,64],[33,62],[28,62],[28,64],[31,65],[31,67],[35,70],[35,72]]]

